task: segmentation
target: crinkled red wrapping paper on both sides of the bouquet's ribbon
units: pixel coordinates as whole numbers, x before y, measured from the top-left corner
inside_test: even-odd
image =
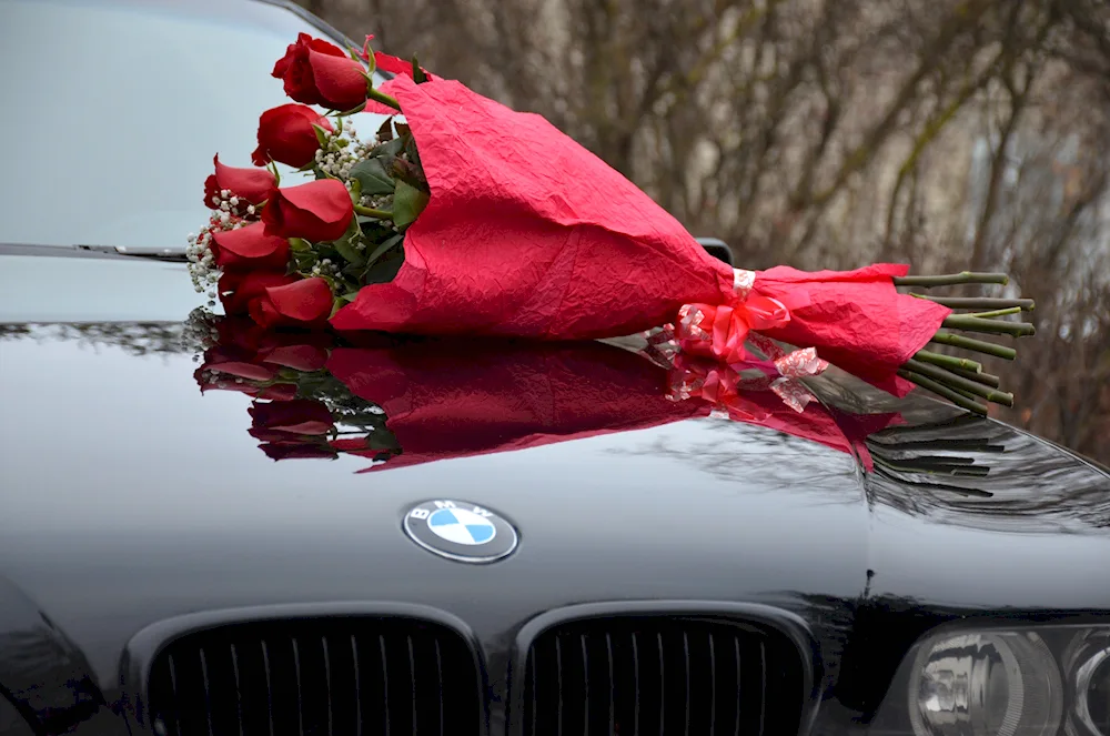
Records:
[[[432,199],[405,233],[396,278],[363,288],[332,317],[336,329],[581,340],[673,322],[683,304],[743,304],[728,265],[543,118],[454,81],[416,84],[402,74],[383,91],[412,128]],[[791,312],[768,335],[815,346],[901,395],[911,386],[895,371],[949,313],[898,294],[890,276],[905,271],[779,266],[759,272],[750,293]],[[739,344],[743,332],[723,334]]]

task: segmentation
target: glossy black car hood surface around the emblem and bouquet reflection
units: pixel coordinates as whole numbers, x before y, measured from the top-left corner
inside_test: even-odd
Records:
[[[937,402],[815,384],[838,411],[898,414],[866,441],[895,458],[884,473],[788,426],[706,416],[363,473],[364,456],[268,457],[246,432],[251,397],[202,395],[180,336],[173,323],[0,333],[0,608],[46,616],[105,690],[143,627],[279,603],[434,606],[492,649],[596,601],[1110,608],[1107,475]],[[481,355],[455,350],[460,365]],[[955,454],[989,472],[907,470],[945,455],[937,440],[966,441]],[[518,550],[492,565],[428,554],[401,522],[430,498],[498,512]]]

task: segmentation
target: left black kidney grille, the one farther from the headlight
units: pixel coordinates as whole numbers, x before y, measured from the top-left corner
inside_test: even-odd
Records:
[[[391,618],[252,622],[174,639],[150,713],[168,736],[478,733],[474,658],[456,633]]]

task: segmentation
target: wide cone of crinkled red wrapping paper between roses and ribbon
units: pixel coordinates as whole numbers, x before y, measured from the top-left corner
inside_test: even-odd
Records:
[[[542,117],[458,82],[389,83],[432,189],[405,263],[332,319],[340,330],[630,334],[717,302],[731,270],[670,214]]]

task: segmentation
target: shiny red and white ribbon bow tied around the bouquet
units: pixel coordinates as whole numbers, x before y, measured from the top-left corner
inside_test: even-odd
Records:
[[[755,282],[755,271],[735,269],[733,296],[727,304],[683,304],[678,310],[678,321],[673,332],[665,329],[649,337],[648,351],[655,356],[673,357],[660,346],[673,337],[683,353],[725,363],[735,373],[745,369],[756,369],[768,377],[777,375],[779,377],[771,381],[769,386],[759,387],[769,387],[790,409],[804,412],[814,395],[797,379],[819,375],[829,364],[817,356],[817,350],[814,347],[787,353],[766,335],[759,334],[759,330],[789,323],[790,311],[777,299],[753,293]],[[804,306],[806,303],[807,300],[803,298],[796,306]],[[766,361],[753,359],[745,347],[748,341],[766,356]],[[718,384],[725,386],[726,393],[728,389],[734,387],[734,384],[740,385],[735,381],[728,384],[719,377],[706,377],[699,384],[703,397],[706,397],[704,389],[706,380],[710,382],[709,392],[714,395],[719,393]],[[755,386],[748,384],[743,387]]]

